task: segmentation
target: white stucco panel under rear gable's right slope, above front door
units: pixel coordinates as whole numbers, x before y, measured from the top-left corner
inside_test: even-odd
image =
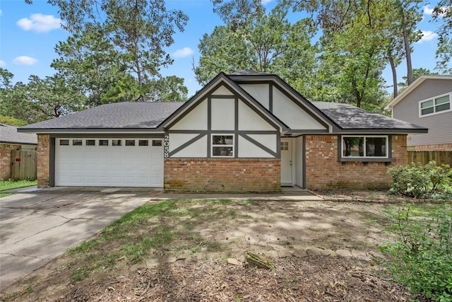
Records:
[[[273,88],[273,115],[290,129],[326,129],[277,88]]]

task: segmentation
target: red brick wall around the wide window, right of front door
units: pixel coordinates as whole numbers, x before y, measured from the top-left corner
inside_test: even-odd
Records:
[[[388,168],[407,163],[406,135],[392,137],[390,165],[338,161],[338,137],[334,135],[306,136],[306,186],[307,189],[328,188],[388,188],[392,178]]]

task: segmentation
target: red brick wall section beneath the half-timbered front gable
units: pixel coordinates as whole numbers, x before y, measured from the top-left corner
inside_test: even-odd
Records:
[[[165,190],[278,192],[279,158],[165,158]]]

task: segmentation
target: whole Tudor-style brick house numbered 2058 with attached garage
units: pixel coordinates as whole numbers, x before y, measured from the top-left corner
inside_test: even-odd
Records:
[[[113,103],[21,127],[38,134],[40,186],[275,192],[388,187],[424,127],[311,103],[278,76],[218,74],[186,103]]]

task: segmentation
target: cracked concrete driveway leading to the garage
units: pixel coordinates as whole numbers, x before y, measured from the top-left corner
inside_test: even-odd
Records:
[[[57,187],[0,198],[0,290],[161,192]]]

